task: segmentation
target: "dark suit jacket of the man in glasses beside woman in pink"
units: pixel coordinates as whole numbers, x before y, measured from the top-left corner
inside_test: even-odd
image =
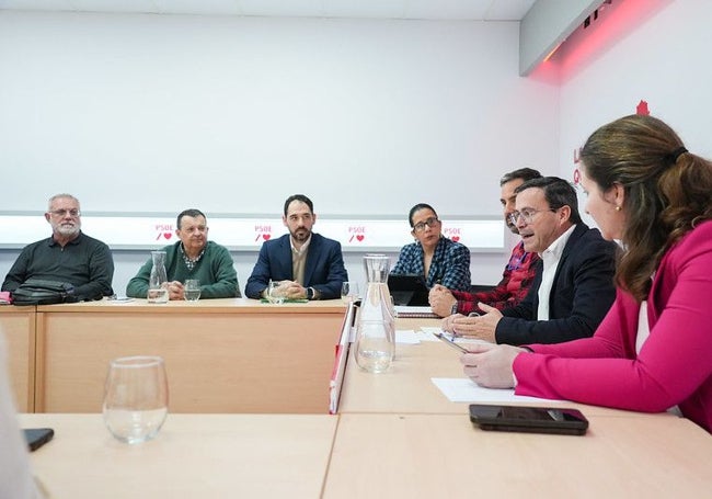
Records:
[[[502,310],[497,343],[561,343],[593,336],[616,298],[616,243],[577,224],[566,241],[549,295],[549,320],[537,320],[543,263],[524,300]]]

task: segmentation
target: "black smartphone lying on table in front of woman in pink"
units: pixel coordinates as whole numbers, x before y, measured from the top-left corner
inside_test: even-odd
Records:
[[[588,420],[576,409],[525,406],[470,406],[470,420],[483,430],[583,435]]]

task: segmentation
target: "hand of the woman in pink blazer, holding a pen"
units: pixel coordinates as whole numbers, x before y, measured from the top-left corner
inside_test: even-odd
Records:
[[[515,386],[512,368],[517,355],[526,350],[509,344],[469,344],[460,358],[462,370],[470,379],[486,388],[512,388]]]

